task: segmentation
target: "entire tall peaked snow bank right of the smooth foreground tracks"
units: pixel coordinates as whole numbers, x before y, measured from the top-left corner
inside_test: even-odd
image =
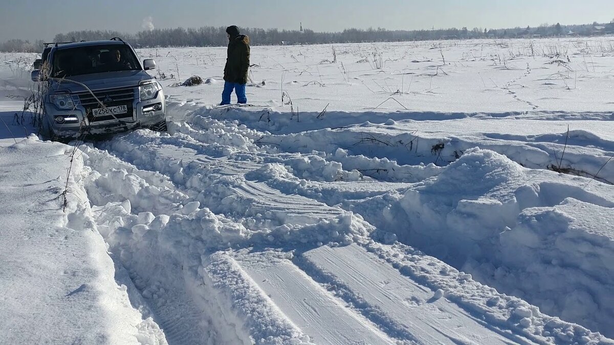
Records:
[[[405,193],[410,226],[397,236],[548,314],[612,336],[614,188],[593,182],[585,190],[587,182],[471,150]]]

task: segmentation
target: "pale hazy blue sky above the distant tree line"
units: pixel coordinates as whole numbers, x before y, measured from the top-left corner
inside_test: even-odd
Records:
[[[134,33],[156,28],[228,26],[314,31],[344,28],[508,28],[609,22],[614,0],[3,0],[0,41],[52,39],[81,29]]]

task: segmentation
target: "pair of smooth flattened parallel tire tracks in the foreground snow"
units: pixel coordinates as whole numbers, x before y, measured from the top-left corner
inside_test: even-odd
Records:
[[[312,337],[318,344],[385,343],[373,325],[392,338],[419,344],[532,343],[515,335],[507,339],[505,331],[401,276],[357,244],[322,246],[295,255],[291,261],[276,252],[239,253],[235,258],[284,314],[308,334],[318,335]],[[353,308],[344,308],[342,301]],[[360,322],[355,313],[373,325]]]

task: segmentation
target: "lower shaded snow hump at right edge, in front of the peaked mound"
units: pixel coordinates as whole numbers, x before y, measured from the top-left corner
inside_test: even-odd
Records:
[[[543,300],[544,312],[611,335],[614,324],[614,212],[610,207],[565,199],[532,207],[500,236],[505,268],[485,275]]]

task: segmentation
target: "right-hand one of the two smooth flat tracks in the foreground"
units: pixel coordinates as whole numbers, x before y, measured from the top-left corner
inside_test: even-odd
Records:
[[[390,335],[410,336],[422,344],[533,344],[484,323],[440,292],[400,276],[389,263],[355,244],[309,250],[293,262],[312,276],[319,276],[366,317],[378,320]]]

